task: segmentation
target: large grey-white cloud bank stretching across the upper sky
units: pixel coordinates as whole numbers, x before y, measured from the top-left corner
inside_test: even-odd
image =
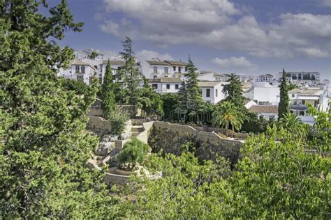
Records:
[[[104,2],[110,16],[121,12],[126,19],[117,23],[105,19],[102,31],[149,40],[163,47],[198,44],[278,58],[331,54],[331,15],[285,13],[279,16],[279,23],[259,24],[228,0]]]

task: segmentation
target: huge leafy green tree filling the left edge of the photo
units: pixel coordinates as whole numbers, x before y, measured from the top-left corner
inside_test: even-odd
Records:
[[[82,24],[73,22],[66,1],[50,8],[50,17],[38,13],[41,3],[47,7],[0,3],[0,218],[111,216],[117,200],[101,173],[85,167],[98,144],[85,130],[96,87],[82,97],[54,74],[73,58],[55,40]]]

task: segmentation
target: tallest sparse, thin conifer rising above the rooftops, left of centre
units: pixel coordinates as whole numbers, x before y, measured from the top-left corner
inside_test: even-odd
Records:
[[[135,68],[135,57],[132,49],[132,40],[128,37],[125,38],[123,43],[123,52],[120,52],[124,58],[125,64],[119,71],[119,78],[124,79],[125,95],[128,97],[128,104],[131,104],[132,111],[131,117],[135,117],[138,108],[141,107],[138,93],[138,86],[140,82],[140,72]]]

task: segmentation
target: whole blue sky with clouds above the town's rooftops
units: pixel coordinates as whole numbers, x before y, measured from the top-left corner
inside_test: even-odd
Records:
[[[52,1],[54,3],[54,1]],[[60,45],[186,61],[238,74],[320,72],[331,79],[331,0],[69,0],[80,33]]]

